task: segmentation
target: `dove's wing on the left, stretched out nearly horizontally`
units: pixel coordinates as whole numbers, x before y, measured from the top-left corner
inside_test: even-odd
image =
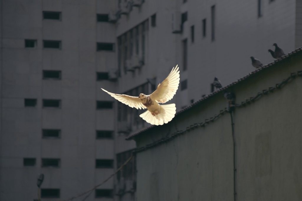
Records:
[[[101,88],[102,89],[102,88]],[[143,105],[142,102],[140,102],[140,98],[136,96],[128,96],[125,94],[116,94],[116,93],[111,93],[109,91],[106,91],[102,89],[104,92],[108,93],[110,96],[113,98],[117,99],[118,101],[128,105],[131,108],[137,108],[137,109],[145,109],[146,106]]]

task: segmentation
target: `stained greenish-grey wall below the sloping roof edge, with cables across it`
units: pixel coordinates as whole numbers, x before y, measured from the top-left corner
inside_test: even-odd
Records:
[[[231,86],[241,103],[302,70],[302,52]],[[233,113],[238,200],[301,200],[302,112],[297,77],[280,90]],[[135,137],[138,148],[226,107],[223,93]],[[205,127],[137,153],[137,200],[234,200],[233,141],[229,113]]]

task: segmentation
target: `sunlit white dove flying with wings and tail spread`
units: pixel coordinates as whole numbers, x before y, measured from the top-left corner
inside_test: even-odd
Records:
[[[143,93],[140,96],[128,96],[125,94],[116,94],[107,92],[110,96],[118,101],[128,105],[131,108],[145,109],[147,111],[140,115],[143,120],[153,125],[162,125],[171,121],[176,113],[175,104],[159,105],[173,98],[179,85],[179,67],[172,68],[172,71],[162,83],[157,86],[157,89],[150,95]]]

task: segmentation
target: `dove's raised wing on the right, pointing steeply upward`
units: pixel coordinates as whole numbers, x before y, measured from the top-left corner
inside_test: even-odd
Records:
[[[162,83],[157,86],[157,89],[150,94],[151,99],[159,103],[165,103],[173,98],[179,85],[179,67],[172,68],[172,71]]]

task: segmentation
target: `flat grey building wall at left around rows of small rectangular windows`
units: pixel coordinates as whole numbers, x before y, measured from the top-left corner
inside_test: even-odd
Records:
[[[42,188],[59,188],[63,199],[114,171],[95,168],[95,159],[114,159],[114,141],[96,140],[96,130],[114,130],[115,109],[96,110],[97,100],[111,100],[97,96],[103,82],[96,81],[96,72],[115,66],[114,52],[96,52],[96,42],[115,43],[115,25],[96,22],[100,2],[1,1],[3,201],[37,199],[40,173]],[[61,11],[62,20],[43,20],[42,11]],[[25,49],[24,39],[37,39],[37,47]],[[43,49],[45,39],[61,40],[61,49]],[[61,70],[62,80],[42,80],[42,70]],[[104,83],[108,90],[115,87]],[[36,107],[25,108],[24,98],[37,98]],[[61,108],[42,108],[42,99],[61,99]],[[61,129],[61,138],[42,139],[44,128]],[[36,165],[24,167],[27,157],[36,158]],[[41,158],[48,157],[60,158],[60,167],[41,168]],[[113,189],[113,180],[102,188]],[[95,200],[95,193],[86,200]]]

